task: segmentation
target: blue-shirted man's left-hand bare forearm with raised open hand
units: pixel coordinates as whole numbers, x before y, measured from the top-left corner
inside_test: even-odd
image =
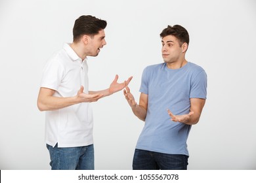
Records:
[[[131,107],[131,110],[133,110],[133,114],[135,114],[135,116],[137,116],[140,120],[145,121],[146,112],[148,109],[148,95],[140,93],[140,101],[139,105],[137,105],[128,86],[125,87],[125,90],[123,90],[123,94],[125,95],[125,99],[127,99],[127,102]]]

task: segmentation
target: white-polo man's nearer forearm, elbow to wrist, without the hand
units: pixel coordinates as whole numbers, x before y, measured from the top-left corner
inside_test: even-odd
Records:
[[[37,107],[39,110],[58,110],[60,108],[69,107],[80,103],[79,99],[75,97],[54,97],[47,96],[44,99],[37,100]]]

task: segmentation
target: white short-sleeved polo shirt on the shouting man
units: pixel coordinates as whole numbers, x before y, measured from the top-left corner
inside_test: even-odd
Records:
[[[81,86],[88,93],[87,59],[81,60],[69,44],[49,59],[41,87],[55,90],[56,97],[73,97]],[[90,103],[79,103],[46,111],[45,142],[51,146],[75,147],[93,144],[93,111]]]

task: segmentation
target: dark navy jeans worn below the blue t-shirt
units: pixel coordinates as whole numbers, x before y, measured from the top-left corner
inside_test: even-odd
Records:
[[[188,156],[135,149],[133,170],[186,170]]]

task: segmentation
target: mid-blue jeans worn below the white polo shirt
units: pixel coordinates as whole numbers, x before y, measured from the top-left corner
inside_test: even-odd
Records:
[[[58,148],[47,144],[52,170],[94,170],[95,155],[93,144],[74,148]]]

